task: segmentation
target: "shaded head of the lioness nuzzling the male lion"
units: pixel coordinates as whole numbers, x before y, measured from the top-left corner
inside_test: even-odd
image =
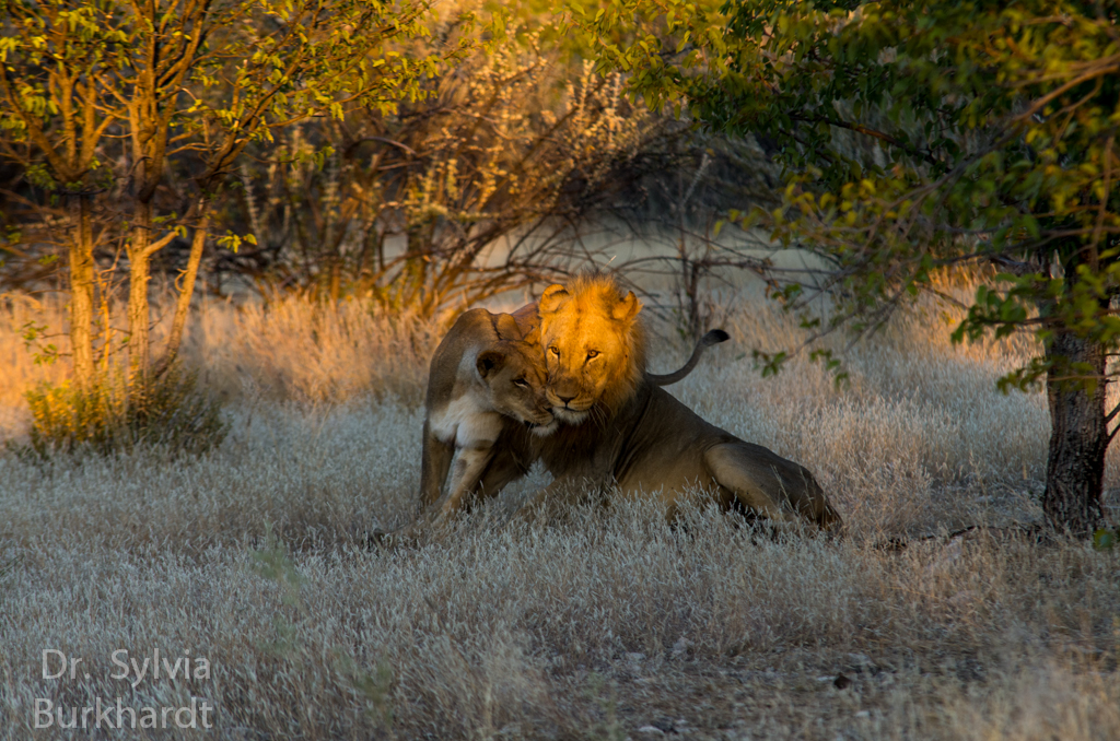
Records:
[[[548,435],[557,428],[544,397],[544,368],[536,345],[500,341],[478,354],[475,366],[489,390],[491,405],[517,420],[534,434]]]

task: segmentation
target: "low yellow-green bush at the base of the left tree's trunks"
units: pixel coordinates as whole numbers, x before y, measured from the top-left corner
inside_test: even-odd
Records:
[[[28,452],[43,460],[64,453],[109,456],[139,447],[200,456],[228,432],[217,401],[197,388],[197,376],[172,367],[147,385],[120,374],[86,387],[40,384],[27,392],[32,423]]]

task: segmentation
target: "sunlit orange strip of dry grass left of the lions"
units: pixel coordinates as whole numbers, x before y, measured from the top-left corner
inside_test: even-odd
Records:
[[[24,392],[58,383],[69,373],[66,312],[59,300],[0,297],[0,435],[26,429]],[[165,306],[171,300],[165,298]],[[315,404],[363,394],[389,396],[407,405],[423,400],[428,359],[439,341],[439,325],[416,317],[377,316],[368,304],[342,301],[333,308],[300,298],[271,302],[204,300],[187,331],[181,357],[199,370],[199,382],[231,400]],[[48,336],[28,345],[29,322]],[[162,347],[170,312],[152,330]],[[124,326],[123,317],[114,322]],[[119,339],[119,335],[118,335]],[[57,346],[55,363],[36,362],[46,343]]]

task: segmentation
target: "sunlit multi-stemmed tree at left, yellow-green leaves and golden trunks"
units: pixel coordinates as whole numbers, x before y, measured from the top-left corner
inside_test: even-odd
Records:
[[[431,39],[427,0],[0,0],[0,159],[30,186],[30,198],[16,199],[39,212],[26,221],[62,222],[41,213],[40,198],[68,208],[65,238],[57,226],[44,236],[69,256],[83,375],[96,339],[99,251],[105,256],[113,242],[127,250],[130,363],[162,368],[178,353],[212,206],[245,148],[272,147],[276,131],[307,119],[394,113],[431,94],[427,82],[441,66],[485,46],[472,12]],[[488,30],[498,36],[501,19]],[[189,207],[175,213],[172,203]],[[148,283],[152,255],[192,229],[190,278],[152,364],[148,294],[136,289]],[[226,232],[218,242],[237,251],[254,236]],[[111,279],[96,290],[119,288]]]

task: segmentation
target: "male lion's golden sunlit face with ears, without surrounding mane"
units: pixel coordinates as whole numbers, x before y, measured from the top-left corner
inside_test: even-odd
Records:
[[[569,294],[554,285],[541,297],[544,394],[562,422],[579,424],[604,394],[626,376],[631,363],[627,322],[641,308],[629,293]]]

